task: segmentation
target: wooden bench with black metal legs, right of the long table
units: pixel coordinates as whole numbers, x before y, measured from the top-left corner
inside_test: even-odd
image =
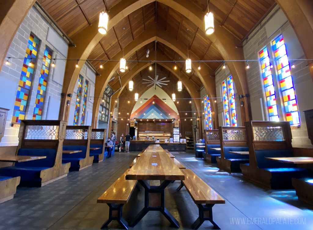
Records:
[[[181,181],[181,185],[177,188],[177,191],[181,190],[182,187],[185,186],[193,202],[195,202],[199,208],[199,217],[192,224],[192,229],[198,229],[206,220],[210,221],[214,225],[215,229],[220,229],[220,227],[218,227],[218,225],[213,221],[212,207],[215,204],[225,204],[225,200],[194,172],[192,172],[192,170],[181,170],[185,175],[185,180]]]

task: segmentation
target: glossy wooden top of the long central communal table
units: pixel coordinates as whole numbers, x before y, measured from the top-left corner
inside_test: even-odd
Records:
[[[184,180],[185,175],[159,145],[150,145],[126,174],[129,180]],[[155,151],[159,150],[159,151]]]

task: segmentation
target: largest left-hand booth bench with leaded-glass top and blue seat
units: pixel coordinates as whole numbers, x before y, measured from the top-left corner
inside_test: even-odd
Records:
[[[62,120],[21,120],[16,155],[46,156],[47,158],[15,163],[18,168],[25,168],[25,172],[30,171],[31,168],[39,170],[36,175],[40,178],[35,181],[25,180],[27,173],[22,169],[15,170],[12,166],[11,171],[15,170],[15,174],[21,174],[20,185],[40,187],[67,176],[70,164],[62,164],[65,127],[66,121]]]

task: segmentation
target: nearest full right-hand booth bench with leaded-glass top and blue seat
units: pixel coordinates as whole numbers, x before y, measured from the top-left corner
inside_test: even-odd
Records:
[[[291,177],[308,174],[294,164],[266,159],[293,157],[291,128],[288,121],[249,121],[245,123],[249,143],[249,164],[241,164],[244,178],[269,188],[292,188]]]

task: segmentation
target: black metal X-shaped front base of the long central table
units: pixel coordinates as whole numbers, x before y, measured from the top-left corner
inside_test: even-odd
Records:
[[[172,214],[164,207],[164,189],[171,183],[171,180],[164,180],[160,186],[150,186],[144,180],[138,180],[138,182],[145,189],[145,206],[138,213],[135,218],[135,221],[131,223],[131,227],[134,227],[149,211],[160,211],[163,216],[167,218],[167,220],[173,225],[173,227],[179,228],[178,221],[172,216]],[[158,204],[154,204],[155,206],[149,206],[149,194],[159,194],[160,201]],[[151,201],[152,204],[152,201]]]

